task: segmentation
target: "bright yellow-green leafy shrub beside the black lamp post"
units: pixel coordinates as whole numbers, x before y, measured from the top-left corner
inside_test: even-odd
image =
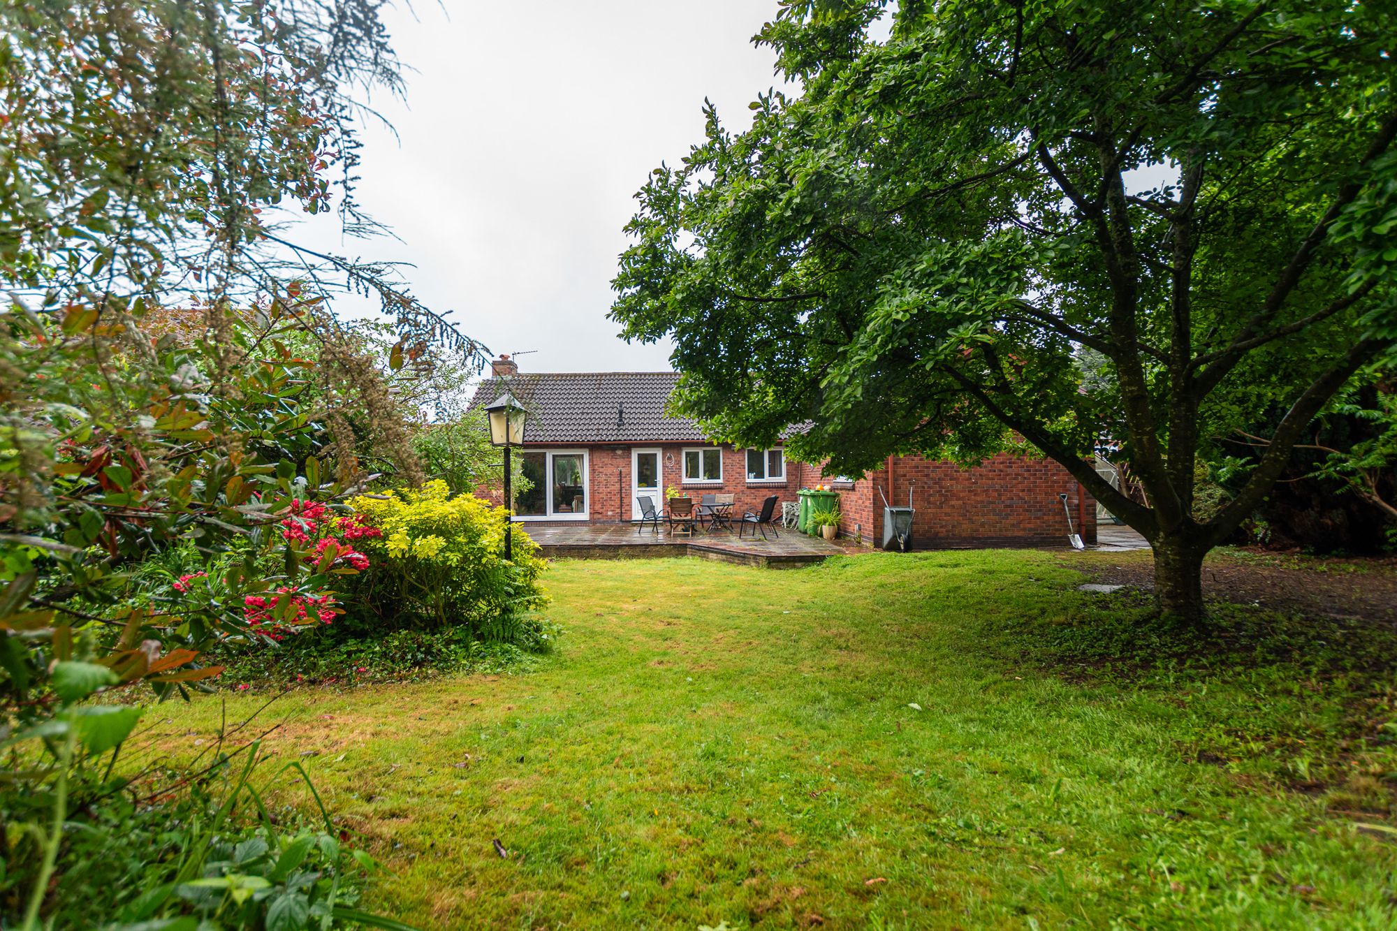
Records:
[[[503,507],[474,495],[451,496],[444,481],[420,491],[362,495],[349,502],[365,535],[369,568],[351,583],[356,607],[374,626],[464,625],[483,640],[534,639],[529,611],[542,607],[543,561],[514,527],[514,561],[504,561]]]

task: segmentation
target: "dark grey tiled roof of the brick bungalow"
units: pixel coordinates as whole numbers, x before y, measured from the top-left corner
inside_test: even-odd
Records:
[[[507,379],[528,408],[525,443],[703,442],[694,421],[668,417],[676,372],[546,372]],[[506,379],[488,377],[471,407],[504,393]]]

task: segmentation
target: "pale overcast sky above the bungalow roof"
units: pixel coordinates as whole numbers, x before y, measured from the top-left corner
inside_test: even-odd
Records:
[[[704,96],[746,129],[775,82],[750,39],[775,0],[418,0],[388,13],[407,99],[365,133],[359,199],[401,242],[307,245],[409,261],[412,289],[522,370],[659,370],[606,319],[636,190],[703,137]],[[521,15],[527,10],[525,15]],[[356,309],[342,301],[344,310]]]

